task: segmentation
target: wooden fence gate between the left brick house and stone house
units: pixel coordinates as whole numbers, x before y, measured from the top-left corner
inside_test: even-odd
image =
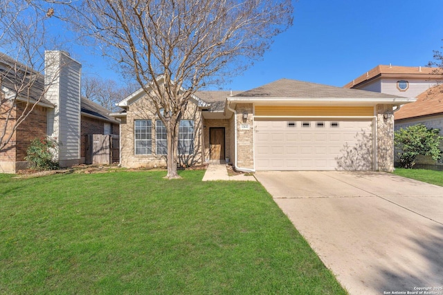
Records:
[[[86,135],[86,164],[104,164],[120,162],[120,137],[118,135]]]

